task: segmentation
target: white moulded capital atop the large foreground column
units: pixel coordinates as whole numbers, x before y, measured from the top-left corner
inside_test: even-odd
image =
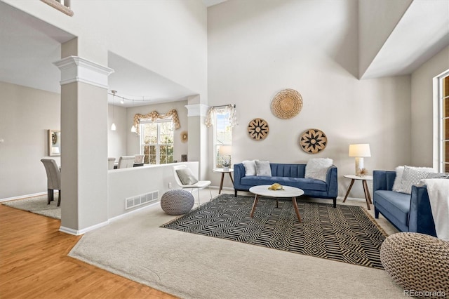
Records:
[[[79,56],[62,58],[53,62],[53,65],[61,71],[61,85],[72,82],[83,82],[93,86],[108,88],[107,77],[114,72],[114,69],[99,65],[96,62],[86,60]]]

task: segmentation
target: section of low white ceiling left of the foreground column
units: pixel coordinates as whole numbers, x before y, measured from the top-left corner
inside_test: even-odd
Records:
[[[0,1],[0,81],[60,93],[61,43],[75,36]]]

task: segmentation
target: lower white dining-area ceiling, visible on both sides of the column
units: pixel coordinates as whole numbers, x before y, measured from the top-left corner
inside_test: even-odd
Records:
[[[74,37],[0,1],[0,81],[60,93],[60,70],[52,62],[60,60],[61,43]],[[130,99],[121,104],[110,95],[108,102],[114,105],[173,102],[195,94],[114,53],[109,52],[107,66],[114,69],[109,90]]]

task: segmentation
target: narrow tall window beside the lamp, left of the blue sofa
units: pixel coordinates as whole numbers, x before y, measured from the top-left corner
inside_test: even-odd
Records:
[[[215,168],[231,164],[232,126],[229,109],[216,109],[214,114],[213,163]]]

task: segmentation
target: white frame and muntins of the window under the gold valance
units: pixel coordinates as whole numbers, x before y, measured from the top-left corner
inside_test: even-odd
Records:
[[[172,126],[172,140],[173,143],[161,143],[161,124],[171,124]],[[156,124],[156,143],[145,143],[144,142],[144,138],[145,138],[145,129],[144,126],[145,124]],[[140,154],[144,154],[145,153],[145,147],[146,146],[155,146],[156,147],[156,164],[151,164],[151,165],[159,165],[161,164],[161,146],[167,146],[169,147],[170,145],[173,147],[173,153],[171,154],[171,161],[168,157],[168,155],[166,155],[166,163],[164,164],[169,164],[169,163],[173,163],[174,158],[175,158],[175,128],[174,128],[174,124],[173,124],[173,119],[170,118],[166,118],[166,119],[157,119],[156,121],[152,121],[151,119],[141,119],[140,120],[140,138],[139,138],[139,143],[140,143]],[[149,155],[145,154],[145,161],[151,161],[150,157],[147,157]]]

